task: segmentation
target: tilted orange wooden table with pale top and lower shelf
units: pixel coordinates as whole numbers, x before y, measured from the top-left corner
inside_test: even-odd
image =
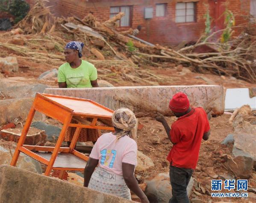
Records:
[[[63,123],[62,131],[59,134],[55,147],[24,145],[35,111]],[[112,127],[111,120],[113,112],[113,110],[92,100],[37,93],[10,165],[15,166],[20,152],[23,152],[29,157],[47,165],[44,173],[47,176],[51,170],[62,170],[62,172],[65,170],[84,170],[86,161],[89,158],[75,150],[79,133],[82,128],[113,131],[114,128]],[[92,118],[92,121],[88,121],[87,118]],[[71,120],[75,120],[77,123],[71,123]],[[97,126],[97,121],[105,125]],[[61,147],[65,132],[69,126],[76,127],[76,131],[70,146]]]

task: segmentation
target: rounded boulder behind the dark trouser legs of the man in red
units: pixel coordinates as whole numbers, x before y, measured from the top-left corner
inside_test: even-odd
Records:
[[[147,187],[145,190],[145,194],[150,202],[153,203],[168,203],[172,197],[171,193],[171,183],[169,173],[160,173],[156,175],[151,180],[145,180],[147,183]],[[188,187],[187,193],[188,197],[191,194],[192,187],[194,184],[193,177],[191,177]]]

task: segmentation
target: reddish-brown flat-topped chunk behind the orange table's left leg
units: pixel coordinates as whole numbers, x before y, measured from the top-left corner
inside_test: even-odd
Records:
[[[3,129],[0,131],[0,138],[6,141],[12,141],[18,143],[21,137],[22,129]],[[44,146],[47,140],[47,135],[44,131],[35,128],[29,128],[29,132],[26,135],[25,145],[40,145]]]

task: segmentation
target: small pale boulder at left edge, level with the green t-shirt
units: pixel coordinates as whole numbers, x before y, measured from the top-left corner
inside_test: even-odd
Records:
[[[0,57],[0,72],[17,72],[19,69],[16,57]]]

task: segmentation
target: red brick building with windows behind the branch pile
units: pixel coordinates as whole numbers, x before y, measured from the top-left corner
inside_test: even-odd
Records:
[[[137,37],[171,45],[198,39],[205,29],[206,5],[213,19],[213,31],[224,28],[224,3],[235,14],[236,25],[247,22],[250,13],[255,15],[256,0],[51,0],[47,6],[52,6],[58,17],[83,18],[92,12],[100,21],[123,11],[119,29],[141,25]]]

